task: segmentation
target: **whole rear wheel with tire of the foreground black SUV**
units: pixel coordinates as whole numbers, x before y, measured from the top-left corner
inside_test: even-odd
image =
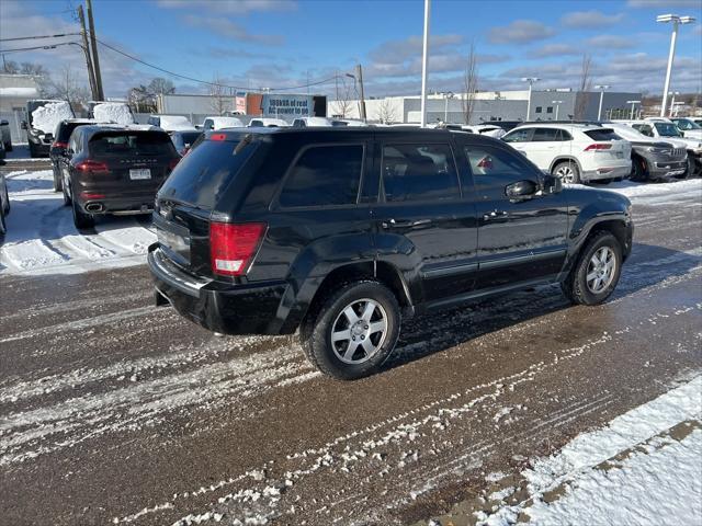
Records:
[[[325,375],[352,380],[377,373],[399,336],[399,305],[382,283],[342,285],[319,302],[301,330],[309,362]]]

